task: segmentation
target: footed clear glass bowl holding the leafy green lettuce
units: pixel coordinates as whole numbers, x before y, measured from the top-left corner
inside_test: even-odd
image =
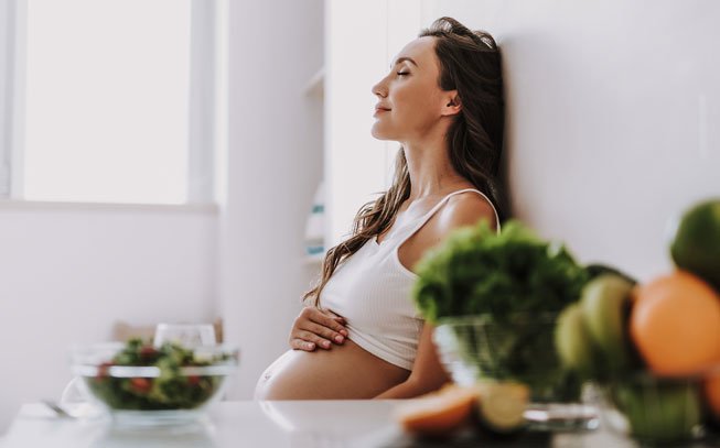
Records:
[[[525,413],[531,429],[588,429],[594,406],[580,403],[581,382],[561,367],[555,350],[557,314],[443,318],[433,340],[453,382],[514,381],[530,389]]]

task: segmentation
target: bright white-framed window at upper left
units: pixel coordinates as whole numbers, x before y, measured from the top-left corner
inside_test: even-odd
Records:
[[[6,2],[0,196],[213,200],[215,1]]]

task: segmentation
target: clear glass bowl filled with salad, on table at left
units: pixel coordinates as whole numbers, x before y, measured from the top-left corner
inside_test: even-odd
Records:
[[[238,364],[225,346],[152,347],[140,340],[76,347],[73,374],[85,394],[118,423],[192,422],[219,400]]]

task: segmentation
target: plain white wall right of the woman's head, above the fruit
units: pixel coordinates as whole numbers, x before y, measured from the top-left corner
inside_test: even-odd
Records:
[[[668,220],[720,195],[720,3],[437,0],[504,55],[514,211],[583,261],[670,267]]]

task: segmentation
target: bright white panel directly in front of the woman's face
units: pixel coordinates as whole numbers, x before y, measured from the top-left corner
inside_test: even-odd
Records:
[[[359,207],[390,186],[400,144],[370,135],[372,88],[420,31],[418,0],[327,1],[325,168],[329,247],[347,238]]]

